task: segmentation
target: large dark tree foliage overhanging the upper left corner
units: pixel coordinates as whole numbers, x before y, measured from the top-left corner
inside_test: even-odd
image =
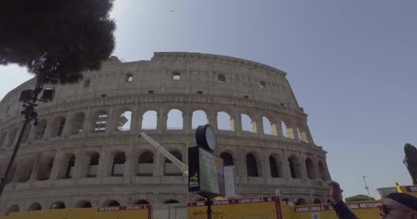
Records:
[[[75,83],[115,47],[114,0],[3,0],[0,64],[26,66],[44,83]]]

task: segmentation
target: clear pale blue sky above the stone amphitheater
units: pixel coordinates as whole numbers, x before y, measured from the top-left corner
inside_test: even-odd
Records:
[[[366,193],[363,175],[377,196],[411,183],[402,160],[405,142],[417,144],[416,11],[414,0],[118,0],[115,55],[214,53],[285,70],[345,196]],[[0,96],[30,77],[16,66],[0,75]]]

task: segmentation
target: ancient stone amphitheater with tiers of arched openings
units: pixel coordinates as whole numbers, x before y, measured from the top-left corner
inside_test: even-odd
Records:
[[[55,99],[37,107],[39,124],[23,136],[0,212],[198,200],[187,177],[137,136],[143,129],[187,164],[203,123],[216,129],[217,155],[236,168],[239,197],[281,192],[299,204],[326,202],[326,151],[314,144],[285,75],[222,55],[110,57],[84,81],[53,86]],[[1,101],[2,172],[22,125],[19,94],[34,84]]]

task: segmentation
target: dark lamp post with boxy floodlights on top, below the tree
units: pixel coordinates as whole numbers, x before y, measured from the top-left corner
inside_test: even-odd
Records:
[[[17,152],[19,151],[19,147],[21,146],[21,141],[23,134],[25,133],[27,124],[30,122],[34,122],[34,126],[38,125],[38,113],[35,110],[37,104],[36,101],[43,101],[48,102],[52,101],[53,96],[55,95],[55,90],[53,89],[45,89],[43,95],[38,99],[38,95],[42,92],[43,83],[37,82],[34,90],[23,90],[21,92],[21,96],[19,101],[23,102],[23,111],[21,114],[25,115],[25,120],[23,121],[23,127],[21,132],[19,133],[19,138],[17,139],[16,146],[14,146],[12,156],[10,157],[9,163],[7,168],[5,169],[4,175],[0,179],[0,197],[3,194],[3,190],[5,188],[6,181],[10,175],[10,170],[12,169],[14,159],[16,159]]]

